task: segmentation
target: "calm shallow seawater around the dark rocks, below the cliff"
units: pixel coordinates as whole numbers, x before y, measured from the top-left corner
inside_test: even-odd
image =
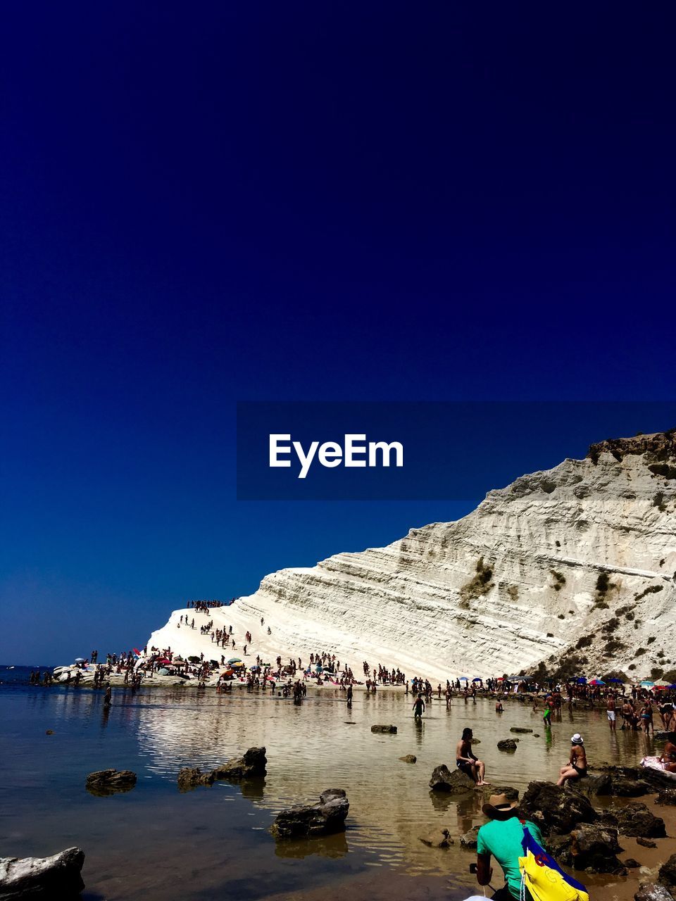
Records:
[[[484,822],[480,793],[450,801],[428,787],[439,763],[453,769],[461,730],[480,739],[487,778],[523,790],[534,778],[555,779],[580,731],[589,761],[635,764],[652,747],[642,735],[611,736],[604,711],[570,713],[545,731],[541,714],[512,703],[428,707],[422,724],[411,699],[380,692],[355,695],[352,710],[333,687],[290,699],[215,694],[213,689],[114,689],[114,704],[88,689],[30,687],[28,669],[0,668],[0,856],[43,856],[79,845],[87,858],[85,898],[192,901],[343,897],[446,898],[471,894],[474,860],[457,838]],[[397,724],[376,735],[372,724]],[[498,751],[510,726],[514,754]],[[48,735],[47,730],[53,730]],[[515,736],[512,736],[515,737]],[[516,736],[518,737],[518,736]],[[253,745],[268,750],[264,783],[215,784],[185,794],[183,766],[213,768]],[[398,760],[417,756],[416,764]],[[85,790],[96,769],[133,769],[131,792],[110,797]],[[350,800],[348,830],[325,841],[276,844],[268,833],[285,806],[318,800],[341,787]],[[426,847],[419,836],[447,827],[456,844]],[[498,882],[494,882],[498,885]]]

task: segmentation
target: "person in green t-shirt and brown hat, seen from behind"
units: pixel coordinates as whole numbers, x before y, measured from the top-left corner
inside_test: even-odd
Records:
[[[488,886],[493,876],[490,867],[491,855],[498,861],[505,874],[507,884],[493,895],[494,901],[518,901],[521,894],[521,873],[519,858],[524,857],[521,842],[524,825],[536,842],[543,844],[540,830],[530,820],[522,824],[516,815],[518,801],[510,802],[507,795],[492,795],[481,810],[489,817],[489,823],[481,826],[477,838],[477,881],[480,886]],[[532,896],[525,889],[526,901]]]

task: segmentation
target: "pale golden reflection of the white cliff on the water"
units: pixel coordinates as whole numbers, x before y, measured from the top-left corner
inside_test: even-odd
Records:
[[[404,697],[358,697],[352,711],[333,696],[308,697],[302,705],[290,700],[248,694],[196,695],[180,689],[143,693],[125,702],[138,733],[139,750],[148,769],[175,780],[183,766],[211,769],[247,748],[264,745],[268,775],[264,782],[244,783],[239,790],[251,803],[275,814],[282,807],[314,803],[328,787],[342,787],[350,799],[349,830],[342,839],[293,842],[279,845],[280,856],[317,853],[340,855],[348,846],[412,872],[465,872],[470,858],[458,836],[483,822],[482,796],[449,798],[431,794],[432,769],[442,762],[453,766],[455,742],[470,723],[477,737],[476,751],[487,763],[487,778],[494,784],[523,790],[532,778],[556,778],[568,756],[572,724],[566,713],[562,724],[544,734],[522,735],[515,754],[501,754],[498,739],[511,725],[541,730],[538,714],[525,705],[510,705],[503,718],[492,705],[452,706],[433,703],[422,724],[415,724]],[[370,725],[394,723],[397,735],[375,735]],[[600,712],[574,714],[576,729],[586,733],[586,744],[607,760],[607,724]],[[574,730],[573,730],[574,731]],[[623,735],[613,756],[635,760],[635,736]],[[596,751],[596,748],[603,751]],[[416,764],[399,757],[414,752]],[[640,751],[640,749],[639,749]],[[199,789],[209,790],[209,789]],[[446,827],[455,837],[447,850],[430,849],[420,836]]]

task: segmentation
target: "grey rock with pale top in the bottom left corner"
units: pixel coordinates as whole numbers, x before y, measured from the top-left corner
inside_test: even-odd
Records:
[[[0,899],[59,898],[70,901],[85,887],[80,875],[85,852],[68,848],[51,857],[0,858]]]

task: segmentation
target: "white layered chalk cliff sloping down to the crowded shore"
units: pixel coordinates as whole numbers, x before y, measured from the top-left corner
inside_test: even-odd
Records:
[[[273,573],[210,617],[215,628],[233,625],[235,652],[252,633],[248,660],[305,664],[311,651],[330,651],[357,678],[363,660],[433,680],[540,662],[659,678],[676,669],[675,507],[674,432],[604,441],[585,460],[490,491],[457,522]],[[177,629],[186,612],[149,646],[220,659],[198,632],[204,614],[196,630]]]

